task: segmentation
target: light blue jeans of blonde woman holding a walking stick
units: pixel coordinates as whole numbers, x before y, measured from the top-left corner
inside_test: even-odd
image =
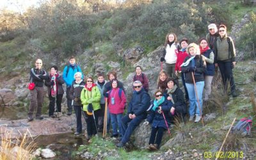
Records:
[[[202,116],[201,112],[203,113],[203,91],[204,91],[204,81],[196,82],[196,92],[199,103],[197,102],[197,97],[195,93],[195,86],[193,83],[186,83],[186,87],[188,89],[188,97],[189,97],[189,115],[198,115]],[[199,109],[200,105],[200,109]]]

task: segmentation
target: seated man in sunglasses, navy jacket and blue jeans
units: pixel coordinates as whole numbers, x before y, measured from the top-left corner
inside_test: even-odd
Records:
[[[147,108],[150,105],[150,97],[142,88],[140,81],[134,81],[133,87],[134,92],[132,93],[127,115],[122,118],[122,140],[116,147],[124,147],[125,143],[129,141],[134,129],[136,129],[142,120],[147,118]]]

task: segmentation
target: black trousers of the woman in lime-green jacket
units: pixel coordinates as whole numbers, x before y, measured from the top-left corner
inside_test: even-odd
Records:
[[[97,134],[97,126],[95,124],[98,124],[98,116],[99,116],[99,109],[94,111],[95,119],[93,118],[93,115],[87,115],[86,111],[85,117],[86,117],[86,125],[87,125],[87,134],[88,136],[92,136],[93,134]]]

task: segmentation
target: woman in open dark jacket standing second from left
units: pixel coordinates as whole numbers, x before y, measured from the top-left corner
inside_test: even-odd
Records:
[[[49,116],[54,118],[55,103],[57,106],[56,112],[61,113],[61,102],[64,94],[63,77],[58,73],[58,67],[52,66],[48,78],[45,80],[49,96]]]

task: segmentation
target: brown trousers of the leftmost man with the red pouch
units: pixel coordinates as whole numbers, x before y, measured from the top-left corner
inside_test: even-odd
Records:
[[[36,109],[36,117],[41,116],[43,101],[44,101],[44,87],[36,86],[34,90],[30,91],[30,106],[28,110],[29,118],[33,118],[33,113],[35,109]]]

